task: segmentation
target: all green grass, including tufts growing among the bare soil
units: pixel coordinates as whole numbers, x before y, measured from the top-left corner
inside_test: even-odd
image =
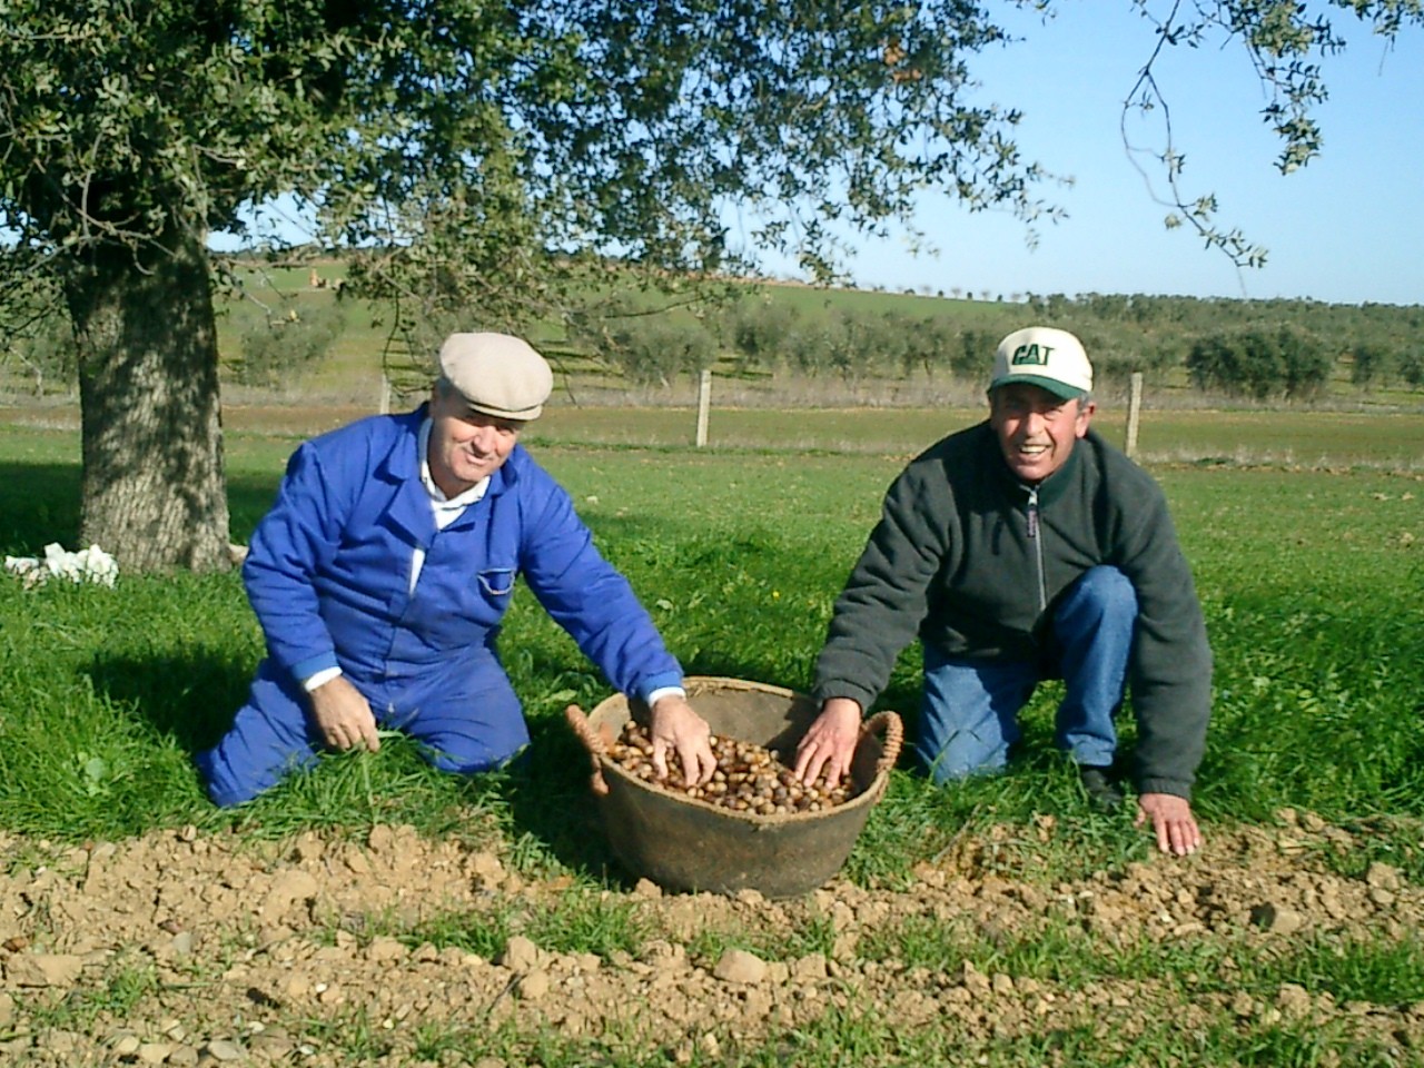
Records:
[[[316,426],[343,416],[319,413]],[[686,444],[686,410],[555,409],[528,443],[570,488],[689,674],[805,688],[833,598],[886,484],[934,436],[977,417],[973,409],[719,412],[715,447],[695,450]],[[289,410],[273,426],[256,409],[229,410],[236,541],[268,507],[293,443],[315,429],[303,419],[312,413]],[[1351,849],[1313,857],[1321,870],[1358,880],[1384,863],[1408,884],[1424,883],[1424,419],[1163,413],[1151,416],[1141,440],[1149,460],[1159,457],[1152,470],[1193,565],[1216,656],[1196,795],[1209,849],[1237,830],[1274,826],[1289,809],[1351,836]],[[77,494],[73,429],[0,426],[0,553],[37,554],[48,541],[73,547]],[[649,936],[637,928],[628,899],[604,894],[627,889],[607,846],[571,819],[587,803],[587,759],[561,712],[570,701],[591,709],[607,685],[527,595],[515,600],[501,648],[534,735],[525,768],[459,780],[430,772],[413,746],[392,739],[379,755],[328,758],[235,813],[218,812],[201,792],[191,753],[225,728],[262,652],[238,577],[121,575],[114,590],[51,584],[31,591],[0,577],[0,832],[17,836],[6,863],[30,870],[38,843],[114,842],[182,827],[261,847],[312,830],[333,842],[365,842],[379,824],[409,823],[433,840],[487,840],[525,877],[562,880],[571,887],[567,903],[538,911],[513,899],[501,906],[508,911],[473,927],[468,917],[414,927],[379,918],[365,938],[390,930],[413,947],[493,956],[511,931],[525,930],[541,944],[609,960],[645,948]],[[881,706],[913,722],[917,695],[910,649]],[[894,772],[852,853],[852,881],[917,893],[921,866],[967,839],[998,843],[981,863],[1027,887],[1024,894],[1051,894],[1055,886],[1081,884],[1075,880],[1136,879],[1151,860],[1149,843],[1129,819],[1096,816],[1081,803],[1072,769],[1051,748],[1055,696],[1051,686],[1035,696],[1022,753],[1001,778],[938,790]],[[1125,725],[1126,745],[1132,736]],[[1045,820],[1057,829],[1052,836],[1042,833]],[[834,941],[826,917],[790,931],[746,924],[732,944],[772,960],[812,950],[829,956]],[[1287,983],[1330,991],[1341,1002],[1424,1002],[1417,934],[1312,941],[1283,957],[1262,956],[1247,941],[1192,943],[1195,950],[1134,943],[1129,953],[1072,923],[1005,940],[968,920],[906,914],[880,924],[859,953],[911,970],[970,961],[1061,991],[1134,977],[1165,988],[1163,1004],[1178,998],[1200,1007],[1219,998],[1227,1008],[1193,1038],[1198,1054],[1186,1061],[1195,1064],[1383,1065],[1400,1061],[1341,1058],[1336,1032],[1313,1032],[1307,1022],[1232,1022],[1230,998]],[[722,937],[693,938],[688,951],[715,960]],[[135,1001],[161,993],[134,990]],[[66,1011],[53,1018],[83,1030],[74,1005]],[[303,1027],[326,1048],[345,1051],[345,1062],[387,1062],[359,1010]],[[464,1049],[474,1062],[471,1051],[487,1052],[497,1035],[473,1028],[422,1041],[424,1059]],[[899,1030],[893,1018],[830,1005],[815,1027],[778,1042],[684,1061],[790,1058],[829,1068],[936,1062],[964,1052],[1005,1065],[1159,1064],[1185,1055],[1169,1015],[1136,1041],[1136,1052],[1111,1058],[1091,1031],[954,1047],[934,1031]],[[614,1054],[605,1044],[537,1028],[501,1048],[498,1064],[551,1067],[666,1064],[671,1055]]]

